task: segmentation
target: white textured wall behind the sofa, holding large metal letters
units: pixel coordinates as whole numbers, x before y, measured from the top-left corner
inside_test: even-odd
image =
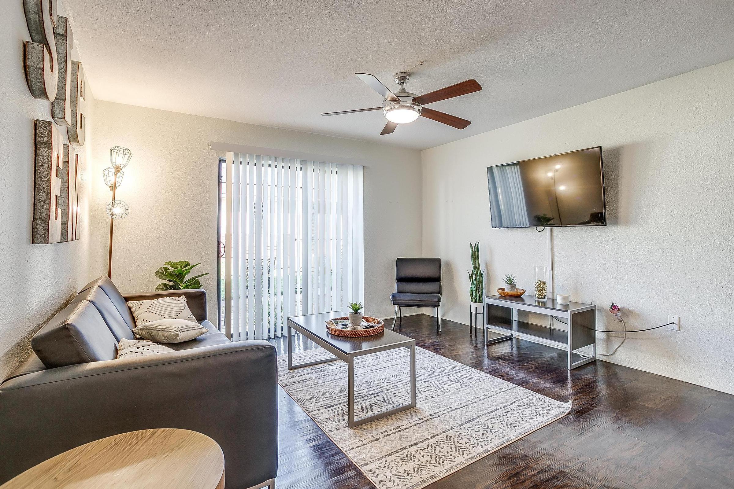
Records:
[[[59,5],[59,15],[64,15]],[[72,21],[73,28],[73,21]],[[31,96],[23,73],[23,42],[30,40],[22,1],[0,2],[0,380],[29,353],[30,337],[70,301],[87,276],[87,178],[79,193],[81,240],[31,244],[34,120],[52,120],[51,102]],[[72,58],[79,60],[74,45]],[[84,59],[81,59],[82,65]],[[92,91],[82,111],[93,126]],[[66,138],[65,128],[60,132]]]

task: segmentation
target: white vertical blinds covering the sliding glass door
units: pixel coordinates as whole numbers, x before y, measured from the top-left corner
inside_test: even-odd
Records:
[[[363,167],[228,152],[222,169],[226,334],[279,337],[286,318],[364,297]]]

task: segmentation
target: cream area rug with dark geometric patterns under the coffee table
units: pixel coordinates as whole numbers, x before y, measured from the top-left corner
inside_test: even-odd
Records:
[[[379,489],[419,489],[568,413],[528,389],[415,348],[417,407],[349,428],[346,364],[336,360],[288,372],[278,381]],[[318,348],[294,363],[328,358]],[[410,402],[407,348],[355,360],[355,416]]]

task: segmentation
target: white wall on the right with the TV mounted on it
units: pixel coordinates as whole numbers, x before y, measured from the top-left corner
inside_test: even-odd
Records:
[[[555,229],[556,289],[622,305],[630,334],[608,361],[734,393],[734,61],[422,152],[423,254],[443,258],[445,317],[467,322],[468,243],[487,290],[531,289],[548,231],[491,229],[487,166],[601,145],[608,226]],[[600,338],[604,335],[600,334]],[[604,352],[619,339],[600,343]]]

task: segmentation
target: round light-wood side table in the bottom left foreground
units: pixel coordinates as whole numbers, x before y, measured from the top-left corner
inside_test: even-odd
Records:
[[[223,489],[225,456],[216,441],[161,428],[109,436],[49,458],[0,489]]]

